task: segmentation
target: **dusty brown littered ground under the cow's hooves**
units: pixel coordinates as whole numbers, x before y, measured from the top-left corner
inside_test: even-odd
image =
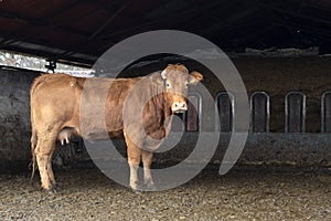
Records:
[[[329,220],[329,171],[204,170],[162,192],[134,193],[96,169],[56,172],[60,191],[0,176],[0,220]]]

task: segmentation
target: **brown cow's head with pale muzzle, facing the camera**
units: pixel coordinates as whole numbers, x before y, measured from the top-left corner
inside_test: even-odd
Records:
[[[203,75],[199,72],[189,73],[182,64],[169,64],[160,75],[160,83],[166,87],[166,96],[172,113],[188,110],[188,86],[197,84],[203,80]]]

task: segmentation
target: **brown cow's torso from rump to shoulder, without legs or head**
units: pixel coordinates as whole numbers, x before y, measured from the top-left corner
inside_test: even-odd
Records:
[[[106,126],[111,137],[120,137],[124,102],[139,80],[41,75],[31,87],[32,127],[46,130],[57,124],[85,138],[103,139]]]

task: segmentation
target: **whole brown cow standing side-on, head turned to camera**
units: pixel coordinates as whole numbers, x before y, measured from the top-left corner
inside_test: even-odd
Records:
[[[161,140],[168,135],[171,125],[171,120],[168,119],[171,119],[173,114],[188,109],[188,84],[197,84],[202,78],[199,72],[189,74],[188,69],[181,64],[169,64],[161,73],[152,73],[143,77],[88,78],[92,85],[96,86],[84,91],[87,101],[100,101],[99,88],[109,88],[111,84],[106,95],[106,128],[111,138],[118,135],[125,137],[130,166],[130,187],[134,190],[138,188],[137,169],[141,159],[145,185],[153,188],[150,171],[152,150],[158,148],[160,143],[149,143],[148,138]],[[55,187],[51,159],[57,139],[64,144],[68,141],[72,134],[87,139],[106,138],[98,136],[102,134],[102,126],[97,122],[88,120],[82,131],[79,108],[86,81],[85,77],[66,74],[45,74],[39,76],[31,87],[32,178],[38,164],[44,190],[53,191]],[[153,95],[154,92],[161,93]],[[149,96],[148,102],[145,102],[143,97]],[[130,102],[126,103],[126,98]],[[124,110],[125,105],[129,105],[126,110]],[[143,107],[143,110],[140,109],[143,133],[139,124],[136,124],[137,119],[139,120],[138,108],[141,107]]]

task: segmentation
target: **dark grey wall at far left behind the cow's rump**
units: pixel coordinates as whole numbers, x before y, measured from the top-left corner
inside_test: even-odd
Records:
[[[0,168],[30,160],[30,85],[38,73],[0,70]]]

